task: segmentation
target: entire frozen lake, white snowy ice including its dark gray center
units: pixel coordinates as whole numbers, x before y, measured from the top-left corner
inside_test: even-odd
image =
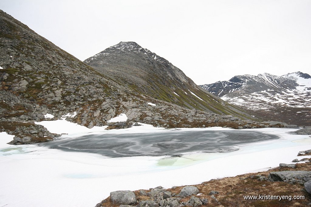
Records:
[[[297,129],[165,130],[144,125],[107,131],[65,120],[42,124],[49,131],[61,132],[59,124],[75,133],[45,144],[7,145],[13,136],[1,132],[0,207],[93,207],[111,191],[193,185],[264,171],[311,149],[311,138],[295,135]]]

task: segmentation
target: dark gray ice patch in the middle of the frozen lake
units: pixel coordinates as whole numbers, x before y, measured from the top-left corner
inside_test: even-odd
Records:
[[[66,151],[91,152],[109,157],[178,156],[190,152],[228,152],[234,146],[278,139],[259,131],[163,131],[137,134],[86,135],[40,143]]]

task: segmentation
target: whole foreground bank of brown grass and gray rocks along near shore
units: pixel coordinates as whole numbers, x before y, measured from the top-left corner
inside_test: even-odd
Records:
[[[305,150],[298,156],[310,154],[311,150]],[[212,179],[193,186],[114,191],[95,207],[310,206],[311,159],[292,162],[295,164],[280,163],[280,167],[266,172]],[[265,197],[245,197],[259,195]],[[266,195],[276,197],[268,199]]]

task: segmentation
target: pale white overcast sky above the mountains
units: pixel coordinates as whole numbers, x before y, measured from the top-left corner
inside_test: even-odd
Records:
[[[0,9],[82,61],[134,41],[197,84],[311,73],[311,0],[1,0]]]

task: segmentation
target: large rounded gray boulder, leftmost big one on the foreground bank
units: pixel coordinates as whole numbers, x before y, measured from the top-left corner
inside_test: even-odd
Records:
[[[113,204],[120,204],[120,205],[136,204],[136,196],[133,191],[110,192],[110,199]]]

